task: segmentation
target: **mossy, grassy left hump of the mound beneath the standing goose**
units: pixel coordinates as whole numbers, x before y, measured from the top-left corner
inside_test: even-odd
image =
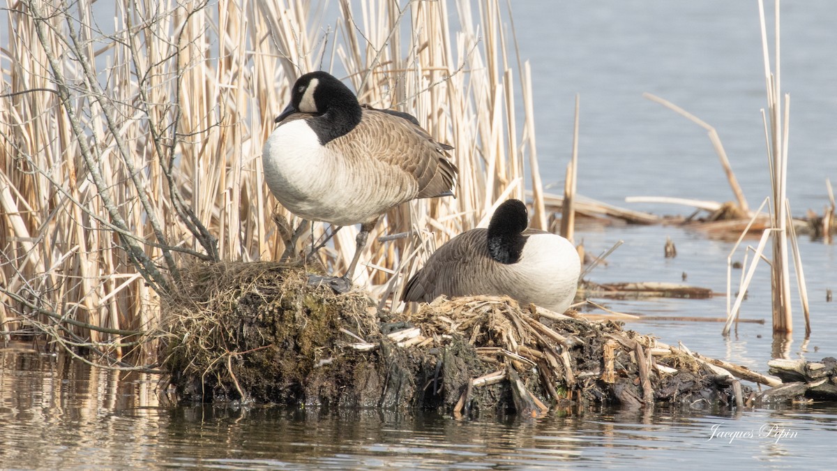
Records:
[[[163,364],[181,396],[292,401],[311,371],[345,346],[341,329],[377,333],[370,306],[364,292],[309,286],[300,267],[196,264],[163,303]]]

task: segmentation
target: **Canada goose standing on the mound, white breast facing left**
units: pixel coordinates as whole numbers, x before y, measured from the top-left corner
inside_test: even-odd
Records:
[[[457,168],[407,113],[361,106],[340,80],[323,71],[302,75],[279,127],[262,149],[264,179],[279,202],[307,220],[361,224],[346,274],[352,276],[367,236],[391,208],[411,199],[452,195]],[[316,280],[315,280],[316,281]]]

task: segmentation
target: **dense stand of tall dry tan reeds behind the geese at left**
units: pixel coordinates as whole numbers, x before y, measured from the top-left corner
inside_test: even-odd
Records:
[[[456,198],[391,211],[362,257],[356,283],[382,302],[398,296],[399,280],[433,246],[485,224],[499,199],[522,198],[523,168],[537,163],[531,87],[509,52],[500,3],[338,7],[9,0],[2,332],[45,332],[116,358],[160,323],[158,297],[177,289],[185,261],[283,253],[273,216],[299,221],[266,189],[260,152],[290,85],[309,70],[331,70],[362,102],[408,111],[455,148]],[[524,116],[515,113],[518,95]],[[345,267],[356,231],[344,228],[322,251],[329,271]],[[399,232],[410,235],[374,241]]]

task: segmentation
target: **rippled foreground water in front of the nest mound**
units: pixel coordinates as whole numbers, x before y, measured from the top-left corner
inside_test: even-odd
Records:
[[[759,411],[569,406],[542,419],[432,413],[161,407],[157,377],[0,350],[3,468],[556,468],[667,466],[713,453],[730,465],[819,464],[837,408]],[[749,432],[750,437],[712,437]],[[761,437],[778,427],[793,437]],[[778,429],[777,428],[777,429]]]

